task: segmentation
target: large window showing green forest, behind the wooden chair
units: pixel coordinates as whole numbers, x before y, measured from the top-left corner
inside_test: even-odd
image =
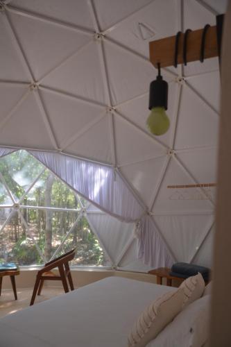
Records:
[[[76,248],[72,264],[107,266],[87,205],[28,152],[0,158],[0,262],[43,264]]]

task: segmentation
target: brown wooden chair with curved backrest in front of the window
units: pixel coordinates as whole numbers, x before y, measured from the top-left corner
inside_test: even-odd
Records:
[[[33,303],[35,302],[36,294],[41,294],[44,280],[61,280],[65,293],[67,293],[69,291],[67,284],[68,278],[70,288],[71,290],[74,290],[74,285],[71,278],[71,271],[69,268],[69,262],[74,259],[74,256],[75,250],[73,249],[72,251],[69,251],[64,255],[61,255],[60,257],[51,260],[51,262],[47,262],[44,268],[37,272],[37,277],[35,280],[35,286],[33,289],[30,305],[33,305]],[[52,269],[55,269],[55,267],[58,267],[60,276],[57,276],[56,273],[51,271]]]

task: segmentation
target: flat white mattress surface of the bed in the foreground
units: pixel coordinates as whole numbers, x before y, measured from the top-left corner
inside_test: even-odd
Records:
[[[125,347],[146,305],[171,287],[110,277],[0,319],[1,347]]]

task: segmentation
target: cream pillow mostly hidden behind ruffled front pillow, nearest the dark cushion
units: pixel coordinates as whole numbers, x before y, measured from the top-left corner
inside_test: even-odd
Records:
[[[189,303],[192,303],[202,296],[205,290],[205,281],[201,273],[198,273],[196,276],[191,276],[184,280],[179,288],[183,289],[185,293],[184,305],[189,305]]]

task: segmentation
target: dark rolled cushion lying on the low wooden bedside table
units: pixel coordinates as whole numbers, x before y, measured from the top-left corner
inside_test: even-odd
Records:
[[[197,275],[198,272],[201,273],[205,281],[209,280],[209,269],[205,266],[199,266],[196,264],[188,264],[187,262],[177,262],[171,266],[171,276],[176,276],[180,278],[188,278],[190,276]]]

